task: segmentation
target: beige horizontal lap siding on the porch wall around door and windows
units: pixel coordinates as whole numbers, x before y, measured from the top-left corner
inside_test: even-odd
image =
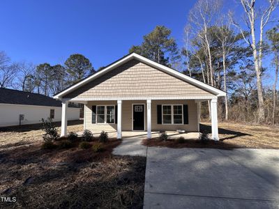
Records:
[[[117,124],[96,124],[92,123],[92,106],[93,105],[117,105],[116,101],[91,101],[85,104],[84,123],[85,129],[98,133],[102,130],[107,132],[116,131]],[[146,100],[123,100],[122,101],[122,130],[131,131],[132,128],[132,104],[144,104],[145,129],[146,129]],[[187,104],[188,105],[188,124],[183,125],[163,125],[157,121],[157,105],[160,104]],[[151,130],[186,130],[189,132],[198,131],[197,121],[197,103],[195,100],[152,100],[151,101]]]

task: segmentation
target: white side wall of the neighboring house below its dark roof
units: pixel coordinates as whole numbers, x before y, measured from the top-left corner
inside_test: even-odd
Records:
[[[0,127],[20,125],[20,114],[24,114],[24,124],[40,123],[42,118],[50,117],[50,109],[54,109],[53,121],[61,121],[62,107],[24,105],[24,104],[0,104]],[[68,107],[68,121],[80,118],[80,108]]]

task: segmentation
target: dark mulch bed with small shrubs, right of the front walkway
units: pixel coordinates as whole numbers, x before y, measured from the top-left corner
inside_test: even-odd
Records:
[[[200,141],[198,139],[185,139],[183,143],[179,143],[174,139],[167,139],[166,141],[160,141],[157,138],[144,139],[142,140],[144,146],[161,146],[168,148],[216,148],[232,150],[234,148],[241,148],[235,144],[227,144],[224,141],[213,141],[209,140],[206,142]]]

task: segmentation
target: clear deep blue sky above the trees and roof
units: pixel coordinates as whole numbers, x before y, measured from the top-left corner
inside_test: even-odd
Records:
[[[226,10],[241,17],[236,1],[224,3]],[[51,65],[79,53],[98,69],[128,54],[156,25],[171,29],[182,47],[183,27],[194,4],[194,0],[1,0],[0,50],[15,62]]]

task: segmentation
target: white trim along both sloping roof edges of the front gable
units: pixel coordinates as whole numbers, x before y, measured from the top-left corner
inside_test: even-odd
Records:
[[[87,83],[93,81],[94,79],[97,79],[98,77],[104,75],[105,73],[110,72],[110,70],[113,70],[114,68],[118,67],[119,65],[123,65],[124,63],[126,63],[132,59],[137,59],[138,61],[141,61],[142,63],[146,63],[147,65],[150,65],[153,68],[157,68],[158,70],[161,70],[169,75],[179,78],[185,82],[188,82],[189,84],[192,84],[193,86],[202,88],[205,91],[213,93],[214,95],[216,95],[218,97],[226,95],[226,93],[224,91],[221,91],[218,88],[209,86],[208,84],[204,84],[203,82],[199,82],[197,79],[193,79],[192,77],[184,75],[183,73],[181,73],[177,70],[169,68],[160,63],[156,63],[155,61],[151,61],[150,59],[147,59],[144,56],[141,56],[140,54],[136,54],[135,52],[133,52],[131,54],[127,54],[126,56],[123,56],[121,59],[119,59],[117,61],[114,61],[114,63],[107,65],[107,67],[103,68],[102,70],[99,70],[98,72],[94,73],[93,75],[90,75],[89,77],[86,77],[85,79],[82,79],[80,82],[77,82],[76,84],[73,84],[72,86],[69,86],[68,88],[66,88],[63,91],[54,95],[54,98],[61,99],[61,98],[63,98],[63,95],[66,95],[66,94],[74,91],[75,89],[79,88],[80,86],[83,86],[84,84],[87,84]]]

